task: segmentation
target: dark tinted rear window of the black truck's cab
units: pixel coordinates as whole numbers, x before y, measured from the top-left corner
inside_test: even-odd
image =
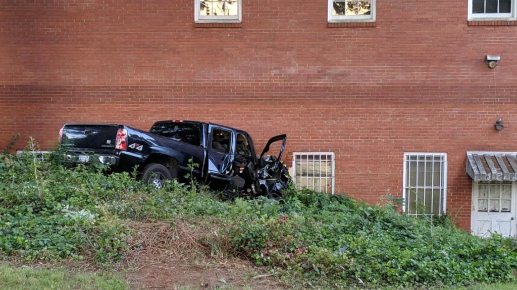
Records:
[[[155,123],[149,132],[195,146],[200,146],[201,144],[201,127],[199,123],[160,122]]]

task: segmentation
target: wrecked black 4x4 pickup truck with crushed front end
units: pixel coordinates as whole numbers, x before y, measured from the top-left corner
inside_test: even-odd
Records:
[[[159,121],[149,132],[116,124],[65,124],[59,139],[70,162],[100,163],[114,171],[138,166],[139,178],[156,188],[192,174],[230,197],[278,197],[291,180],[281,163],[286,135],[271,138],[259,156],[245,131],[196,121]],[[276,142],[281,142],[278,156],[266,156]]]

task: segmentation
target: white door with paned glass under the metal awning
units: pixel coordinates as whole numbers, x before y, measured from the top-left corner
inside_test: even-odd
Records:
[[[515,236],[514,182],[473,182],[472,205],[473,234]]]

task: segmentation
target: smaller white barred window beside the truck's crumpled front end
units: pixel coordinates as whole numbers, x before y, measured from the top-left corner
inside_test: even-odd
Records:
[[[334,153],[294,152],[293,180],[296,188],[334,193]]]

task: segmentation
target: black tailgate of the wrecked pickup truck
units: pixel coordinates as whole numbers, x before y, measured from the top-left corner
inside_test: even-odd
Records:
[[[118,125],[66,124],[62,144],[69,148],[113,149]]]

